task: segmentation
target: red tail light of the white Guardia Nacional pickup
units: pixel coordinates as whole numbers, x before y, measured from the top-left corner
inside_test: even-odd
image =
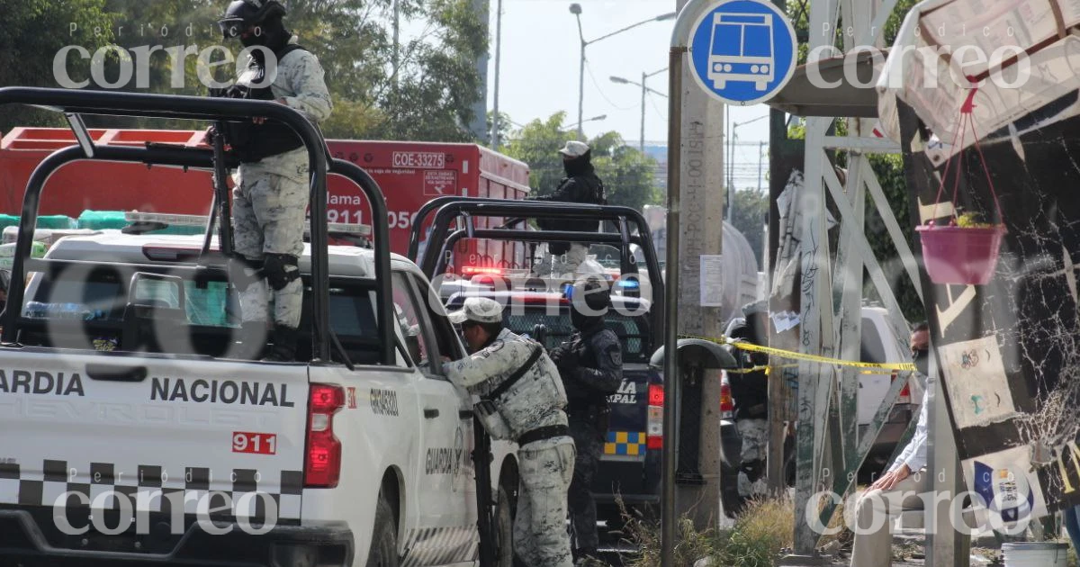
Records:
[[[334,436],[334,414],[345,406],[345,389],[311,384],[308,402],[308,447],[303,461],[305,488],[335,488],[341,475],[341,442]]]

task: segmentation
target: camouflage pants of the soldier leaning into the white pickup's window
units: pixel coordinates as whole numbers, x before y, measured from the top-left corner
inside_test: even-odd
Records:
[[[571,567],[566,490],[573,476],[573,443],[556,437],[517,449],[521,487],[514,519],[515,565]]]

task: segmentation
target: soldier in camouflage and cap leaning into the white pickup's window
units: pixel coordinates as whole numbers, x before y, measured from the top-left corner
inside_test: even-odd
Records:
[[[514,565],[570,567],[566,491],[575,448],[558,369],[542,346],[503,328],[494,299],[470,297],[450,321],[461,324],[473,354],[445,363],[446,376],[481,397],[477,414],[494,438],[518,445]]]

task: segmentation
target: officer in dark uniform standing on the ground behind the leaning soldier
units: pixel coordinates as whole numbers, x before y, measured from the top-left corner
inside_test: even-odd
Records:
[[[576,559],[596,556],[596,502],[593,500],[593,475],[599,465],[607,435],[607,396],[622,382],[622,345],[613,330],[604,325],[611,298],[607,284],[589,279],[573,288],[570,319],[578,332],[552,350],[566,395],[569,399],[570,434],[578,447],[570,483],[570,526],[573,530]]]

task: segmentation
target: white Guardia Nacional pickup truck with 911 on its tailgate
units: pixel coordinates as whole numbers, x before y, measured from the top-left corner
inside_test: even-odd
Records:
[[[329,246],[329,328],[351,359],[232,357],[235,288],[168,275],[203,237],[69,237],[0,347],[2,565],[474,565],[462,346],[411,261],[391,257],[396,364],[379,360],[375,253]],[[310,293],[310,251],[300,260]],[[301,329],[311,327],[306,297]],[[305,351],[307,346],[308,352]],[[492,489],[500,565],[517,491]]]

